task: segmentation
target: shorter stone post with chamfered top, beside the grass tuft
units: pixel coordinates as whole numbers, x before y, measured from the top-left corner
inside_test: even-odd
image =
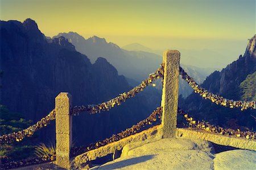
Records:
[[[72,146],[72,96],[60,93],[55,98],[56,111],[56,164],[61,168],[70,169],[70,153]]]

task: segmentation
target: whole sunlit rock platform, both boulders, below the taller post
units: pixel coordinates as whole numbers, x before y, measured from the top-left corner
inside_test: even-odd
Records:
[[[91,169],[256,169],[256,152],[214,154],[210,142],[168,138],[127,144],[121,157]]]

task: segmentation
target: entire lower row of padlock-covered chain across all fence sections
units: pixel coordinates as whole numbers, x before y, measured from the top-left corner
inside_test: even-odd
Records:
[[[127,128],[125,131],[122,131],[117,135],[112,135],[110,138],[107,138],[105,140],[101,140],[96,143],[91,143],[91,144],[89,144],[89,146],[72,147],[71,154],[73,156],[79,155],[84,152],[88,152],[90,150],[94,150],[96,148],[106,146],[107,144],[117,142],[118,140],[126,138],[130,135],[134,135],[137,132],[141,131],[142,128],[144,128],[146,125],[152,125],[152,123],[159,120],[162,117],[162,112],[163,112],[163,108],[157,107],[157,109],[154,110],[148,118],[144,119],[143,121],[138,122],[137,125],[134,125],[131,128]],[[51,117],[52,117],[53,114],[55,114],[54,110],[51,113],[49,115],[51,115]],[[222,127],[210,125],[208,122],[195,121],[192,117],[188,117],[188,114],[185,113],[185,111],[181,110],[180,108],[178,108],[177,114],[184,115],[185,119],[189,122],[189,125],[188,125],[189,128],[203,129],[208,132],[213,132],[215,134],[237,136],[237,137],[243,137],[246,139],[255,139],[255,136],[256,136],[255,132],[225,129]],[[48,155],[46,157],[42,157],[42,159],[28,158],[28,159],[20,160],[19,162],[11,161],[10,163],[2,164],[1,167],[5,168],[5,169],[9,169],[9,168],[18,168],[23,165],[44,163],[46,161],[55,160],[55,156],[56,155]]]

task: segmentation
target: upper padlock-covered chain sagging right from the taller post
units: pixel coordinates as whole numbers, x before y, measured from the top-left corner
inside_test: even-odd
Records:
[[[204,88],[202,88],[199,84],[197,84],[193,78],[189,77],[188,74],[184,71],[183,68],[179,69],[180,75],[182,78],[187,81],[187,83],[194,89],[195,93],[199,93],[204,99],[209,99],[213,103],[217,105],[220,104],[222,106],[234,108],[241,107],[241,110],[246,110],[248,108],[256,109],[255,101],[234,101],[233,99],[226,99],[224,97],[218,96],[216,94],[210,93]]]

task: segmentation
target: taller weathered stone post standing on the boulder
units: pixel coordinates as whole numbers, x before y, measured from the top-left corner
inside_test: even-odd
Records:
[[[180,52],[177,50],[164,51],[163,77],[163,138],[175,137],[177,125],[177,102],[179,97],[179,65]]]

